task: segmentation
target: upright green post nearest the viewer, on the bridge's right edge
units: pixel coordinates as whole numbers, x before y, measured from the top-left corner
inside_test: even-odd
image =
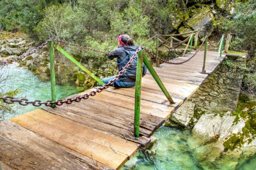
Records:
[[[134,105],[134,136],[139,137],[140,133],[140,92],[143,66],[143,50],[138,54],[136,86],[135,86],[135,105]]]

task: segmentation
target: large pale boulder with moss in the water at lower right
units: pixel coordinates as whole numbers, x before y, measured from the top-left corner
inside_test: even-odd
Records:
[[[245,120],[240,119],[234,123],[236,116],[227,112],[224,116],[206,114],[200,117],[193,127],[190,146],[195,150],[197,161],[201,167],[209,168],[214,162],[228,162],[222,166],[225,169],[236,169],[238,161],[249,158],[256,153],[256,139],[250,143],[243,138],[241,146],[234,150],[227,150],[224,146],[231,136],[238,135],[245,131]],[[202,139],[201,143],[195,143],[196,139]],[[235,139],[235,138],[234,138]],[[236,145],[235,140],[232,145]],[[210,149],[209,149],[210,148]],[[232,161],[225,161],[230,159]],[[213,166],[214,167],[214,166]]]

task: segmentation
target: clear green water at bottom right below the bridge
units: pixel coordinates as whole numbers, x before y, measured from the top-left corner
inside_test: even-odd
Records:
[[[214,148],[205,146],[195,149],[193,146],[200,143],[200,139],[191,138],[190,130],[162,126],[153,136],[158,139],[156,155],[149,156],[140,150],[121,170],[256,170],[256,155],[245,160],[232,156],[217,162],[209,157],[205,160],[205,153],[214,155]]]

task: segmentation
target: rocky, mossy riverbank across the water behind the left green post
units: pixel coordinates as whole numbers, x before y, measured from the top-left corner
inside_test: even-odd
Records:
[[[0,61],[8,61],[13,58],[18,58],[22,54],[27,54],[40,44],[36,43],[33,39],[29,38],[26,34],[22,33],[10,33],[1,32],[0,34]],[[82,51],[71,50],[71,54],[77,59],[82,60]],[[106,56],[105,56],[106,58]],[[46,45],[44,48],[28,57],[16,61],[19,63],[19,67],[26,67],[32,71],[34,75],[37,75],[42,81],[50,80],[50,61],[49,61],[49,47]],[[114,73],[112,62],[107,61],[105,64],[98,68],[94,68],[97,65],[98,60],[89,58],[86,60],[86,68],[91,68],[94,74],[104,77],[106,73]],[[96,73],[95,73],[96,72]],[[82,86],[85,89],[91,88],[97,85],[97,82],[90,76],[81,71],[75,64],[62,56],[60,53],[55,52],[55,76],[56,83],[63,84],[72,82],[77,86]]]

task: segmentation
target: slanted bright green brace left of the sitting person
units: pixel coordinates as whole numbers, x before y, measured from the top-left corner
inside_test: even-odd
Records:
[[[70,54],[68,54],[66,51],[64,51],[59,45],[56,45],[56,49],[60,51],[63,55],[65,55],[70,61],[74,62],[79,68],[81,68],[84,72],[86,72],[88,75],[90,75],[92,78],[94,78],[98,83],[101,85],[104,85],[105,83],[101,81],[98,77],[96,77],[91,71],[89,71],[87,68],[85,68],[83,65],[81,65],[76,59],[74,59]]]

